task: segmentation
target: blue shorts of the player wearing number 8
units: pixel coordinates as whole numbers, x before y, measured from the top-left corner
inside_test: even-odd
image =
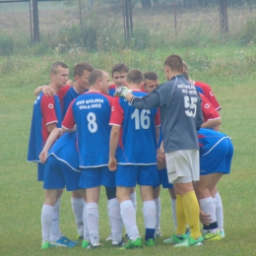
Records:
[[[115,187],[115,171],[110,171],[107,166],[82,169],[79,182],[81,188],[93,188],[100,185]]]

